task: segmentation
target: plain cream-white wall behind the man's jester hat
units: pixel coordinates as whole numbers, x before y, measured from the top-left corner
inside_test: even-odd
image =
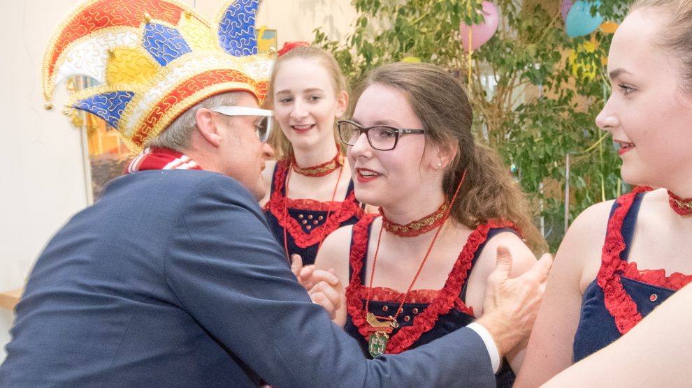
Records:
[[[0,0],[0,292],[20,288],[52,234],[87,205],[81,135],[56,108],[43,110],[43,50],[57,24],[82,1]],[[183,0],[212,20],[222,0]],[[256,24],[287,40],[332,38],[355,18],[349,0],[264,0]],[[12,313],[0,311],[0,361]]]

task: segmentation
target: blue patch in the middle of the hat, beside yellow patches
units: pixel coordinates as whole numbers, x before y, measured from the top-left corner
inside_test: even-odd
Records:
[[[192,52],[180,31],[159,23],[148,23],[144,27],[142,46],[161,66]]]

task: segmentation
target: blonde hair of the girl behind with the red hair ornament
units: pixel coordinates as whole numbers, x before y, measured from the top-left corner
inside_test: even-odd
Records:
[[[326,52],[319,47],[296,46],[279,57],[274,64],[271,78],[269,80],[269,89],[267,91],[267,102],[270,104],[269,107],[271,109],[273,109],[275,104],[274,81],[276,79],[276,75],[279,73],[279,70],[285,61],[294,58],[312,59],[317,61],[331,77],[332,87],[334,88],[335,95],[338,96],[343,91],[348,93],[346,79],[341,72],[338,62],[336,59],[334,59],[332,54],[329,54],[329,52]],[[338,141],[336,126],[334,128],[334,140],[337,144],[341,144],[341,142]],[[286,135],[284,135],[282,132],[278,120],[274,120],[274,127],[271,130],[268,142],[274,149],[277,159],[287,158],[293,152],[291,142],[289,142]]]

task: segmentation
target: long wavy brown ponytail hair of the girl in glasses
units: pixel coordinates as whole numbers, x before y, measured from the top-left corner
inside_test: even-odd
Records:
[[[392,87],[408,98],[426,131],[426,142],[455,144],[456,156],[447,165],[442,181],[442,190],[451,200],[466,171],[450,213],[454,220],[468,227],[477,227],[491,219],[511,221],[533,251],[542,253],[547,248],[531,221],[528,202],[519,184],[500,162],[496,151],[475,142],[471,133],[471,105],[454,77],[431,64],[399,62],[370,72],[361,82],[358,96],[372,84]]]

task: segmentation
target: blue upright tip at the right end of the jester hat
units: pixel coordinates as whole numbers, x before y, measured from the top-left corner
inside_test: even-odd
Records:
[[[219,44],[229,54],[236,57],[257,54],[254,15],[258,5],[258,0],[236,0],[222,13]]]

